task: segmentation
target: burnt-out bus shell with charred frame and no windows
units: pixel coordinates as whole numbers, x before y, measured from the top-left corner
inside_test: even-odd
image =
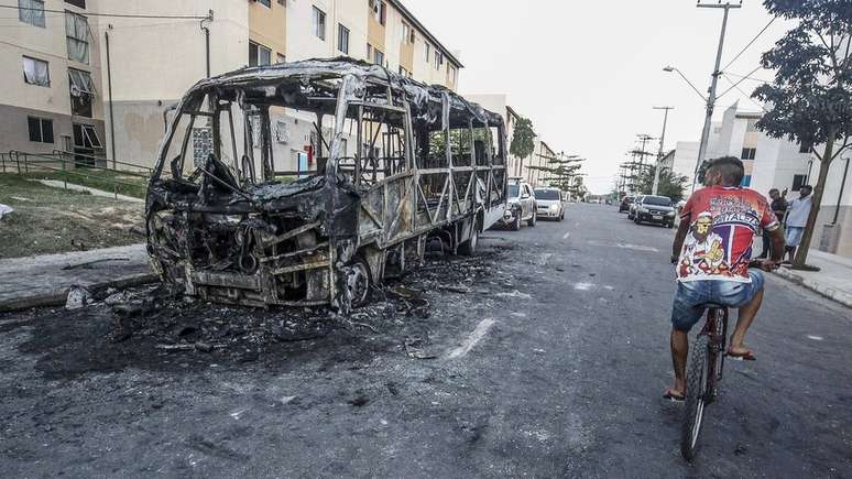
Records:
[[[346,314],[435,238],[472,254],[505,211],[505,157],[502,118],[444,87],[349,58],[243,68],[167,120],[148,252],[188,295]]]

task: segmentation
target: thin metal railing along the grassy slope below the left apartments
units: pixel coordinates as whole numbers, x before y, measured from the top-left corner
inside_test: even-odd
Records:
[[[151,178],[153,168],[134,163],[127,163],[110,160],[109,163],[116,165],[129,166],[139,171],[114,170],[108,166],[101,166],[99,163],[107,164],[107,159],[75,152],[54,150],[51,154],[25,153],[12,150],[9,153],[0,153],[0,172],[19,175],[35,175],[40,172],[58,172],[65,189],[68,189],[68,182],[80,186],[87,186],[86,181],[96,181],[112,187],[112,195],[118,199],[120,187],[127,189],[145,188],[145,184]],[[122,176],[131,176],[144,179],[142,184],[130,183],[118,179],[116,176],[97,175],[91,172],[113,172]],[[79,181],[75,181],[78,179]],[[100,185],[99,185],[100,186]],[[102,189],[100,187],[96,189]]]

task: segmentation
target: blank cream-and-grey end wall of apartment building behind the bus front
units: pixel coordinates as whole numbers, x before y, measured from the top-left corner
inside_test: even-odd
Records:
[[[122,12],[129,14],[156,12],[203,17],[210,9],[215,20],[206,22],[206,25],[210,29],[211,75],[248,65],[249,10],[244,2],[122,1]],[[109,22],[112,25],[107,32],[110,39],[116,156],[119,161],[150,166],[155,161],[163,137],[163,111],[206,75],[205,35],[198,20],[110,19]],[[106,64],[106,52],[102,51],[102,55],[101,62]],[[108,154],[111,141],[111,135],[108,135]]]

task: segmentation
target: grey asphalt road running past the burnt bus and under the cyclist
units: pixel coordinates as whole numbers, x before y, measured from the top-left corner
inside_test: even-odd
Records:
[[[391,285],[419,309],[380,301],[239,355],[110,340],[102,305],[0,316],[0,470],[852,477],[852,312],[777,277],[746,339],[758,360],[727,364],[699,458],[680,458],[681,406],[660,398],[673,235],[571,205],[562,222],[489,231],[478,262],[430,259]]]

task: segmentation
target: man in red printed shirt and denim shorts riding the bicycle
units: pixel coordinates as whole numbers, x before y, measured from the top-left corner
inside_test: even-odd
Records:
[[[666,389],[667,399],[682,401],[686,396],[689,330],[708,304],[740,309],[728,356],[755,359],[743,345],[763,302],[763,274],[749,270],[752,243],[758,229],[769,235],[772,259],[761,261],[761,269],[771,271],[780,263],[784,233],[766,198],[740,186],[744,175],[739,159],[713,160],[704,175],[707,187],[695,192],[680,213],[671,248],[678,276],[671,311],[675,385]]]

